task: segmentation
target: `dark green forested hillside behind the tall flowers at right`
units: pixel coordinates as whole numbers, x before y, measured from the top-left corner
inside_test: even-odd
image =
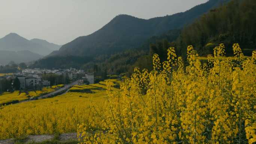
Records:
[[[246,55],[256,46],[256,1],[232,0],[228,4],[210,10],[182,30],[177,47],[185,58],[186,47],[193,45],[201,55],[213,53],[219,43],[226,45],[226,53],[232,54],[232,44],[239,43]]]

